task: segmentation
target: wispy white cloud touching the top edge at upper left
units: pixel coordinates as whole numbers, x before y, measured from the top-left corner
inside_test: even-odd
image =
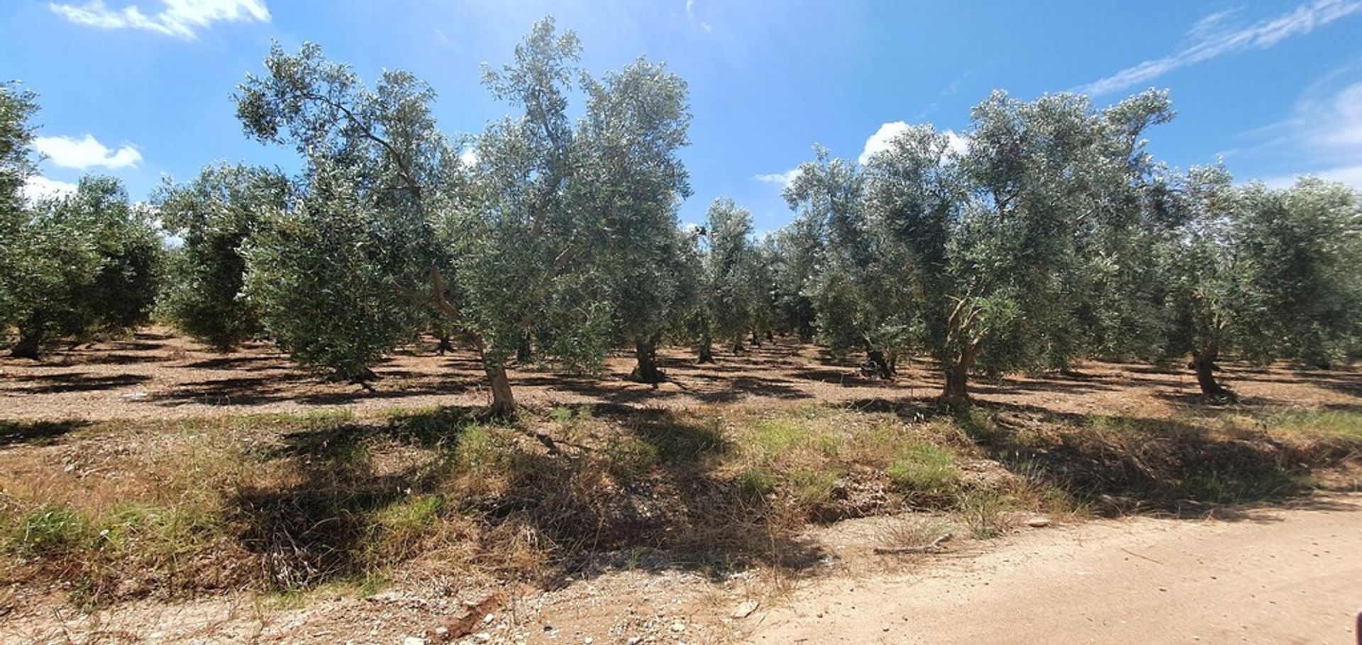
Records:
[[[200,29],[215,22],[270,22],[264,0],[161,0],[162,10],[144,14],[136,4],[110,8],[105,0],[48,7],[76,25],[101,29],[144,29],[183,40],[193,40]]]

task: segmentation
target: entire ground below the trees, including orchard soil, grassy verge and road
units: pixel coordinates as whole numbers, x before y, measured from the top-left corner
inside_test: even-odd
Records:
[[[433,341],[370,387],[159,327],[3,359],[0,642],[1348,638],[1355,370],[1208,406],[1080,363],[952,416],[928,363],[659,363],[518,367],[512,421]]]

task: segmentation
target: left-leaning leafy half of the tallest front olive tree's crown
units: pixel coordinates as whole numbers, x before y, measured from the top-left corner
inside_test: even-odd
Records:
[[[293,145],[304,175],[297,205],[249,239],[247,304],[300,363],[364,379],[411,337],[417,304],[399,289],[439,277],[433,215],[462,185],[458,155],[410,74],[369,89],[312,44],[275,45],[266,68],[240,86],[237,116],[252,138]]]

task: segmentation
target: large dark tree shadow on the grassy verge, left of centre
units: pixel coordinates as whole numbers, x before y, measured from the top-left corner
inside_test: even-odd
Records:
[[[473,440],[470,428],[484,421],[478,410],[460,408],[388,424],[324,424],[287,434],[262,454],[282,460],[287,485],[234,491],[227,517],[262,580],[281,589],[368,575],[418,555],[418,548],[384,551],[391,540],[381,518],[413,500],[432,505],[432,525],[477,526],[462,537],[471,543],[460,551],[474,552],[484,566],[511,567],[503,575],[545,586],[621,567],[681,569],[719,580],[757,563],[802,571],[824,560],[821,550],[797,539],[794,524],[782,522],[779,509],[714,473],[716,457],[729,450],[716,427],[662,410],[592,409],[614,421],[618,439],[650,449],[579,449],[558,436],[556,450],[526,440],[482,454],[477,442],[488,440],[485,430],[462,449]],[[524,424],[501,428],[541,434]],[[396,468],[380,465],[375,442],[394,440],[422,453]],[[466,470],[470,451],[478,455],[473,462],[492,461]],[[640,461],[639,454],[647,457]],[[421,535],[437,530],[422,526]],[[524,555],[509,551],[526,545],[542,566],[513,565]]]

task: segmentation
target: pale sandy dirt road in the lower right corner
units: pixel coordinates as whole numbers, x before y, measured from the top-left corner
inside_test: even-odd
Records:
[[[814,582],[746,642],[1351,645],[1362,495],[1042,529],[921,571]]]

